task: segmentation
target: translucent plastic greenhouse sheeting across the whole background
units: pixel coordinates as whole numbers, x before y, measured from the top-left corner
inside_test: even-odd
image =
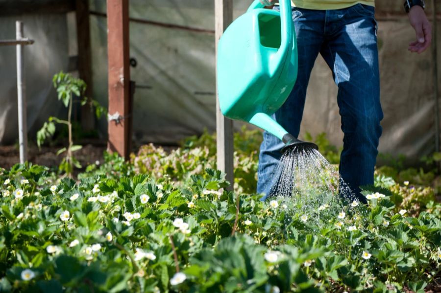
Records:
[[[233,1],[234,17],[245,12],[250,2]],[[93,94],[94,98],[107,106],[105,1],[91,0],[90,8]],[[33,34],[41,36],[65,30],[65,21],[60,18],[57,23],[62,25],[52,25],[50,28],[40,26],[40,29],[35,25],[35,32],[25,31],[25,35],[37,39]],[[134,138],[141,142],[175,143],[188,135],[200,134],[204,128],[214,131],[214,1],[130,0],[130,18],[130,57],[137,62],[136,67],[131,68],[131,79],[137,85],[134,95]],[[40,21],[45,22],[43,18]],[[0,22],[6,20],[2,18]],[[404,154],[417,160],[434,149],[431,54],[429,50],[420,55],[407,51],[407,45],[414,40],[415,33],[405,18],[403,21],[380,21],[378,24],[381,100],[385,113],[379,150],[393,155]],[[13,24],[8,25],[11,26],[9,34],[13,34]],[[1,38],[6,37],[3,27]],[[37,91],[43,87],[43,82],[27,86],[28,99],[35,100],[34,104],[44,105],[34,108],[35,111],[28,110],[29,115],[33,113],[36,116],[33,120],[29,119],[30,126],[46,119],[49,112],[56,112],[54,103],[48,102],[54,99],[54,91],[49,90],[49,81],[53,72],[67,66],[67,45],[63,44],[66,40],[61,32],[59,34],[56,42],[47,36],[46,39],[52,43],[48,43],[44,49],[37,46],[32,48],[36,50],[33,68],[41,68],[40,71],[31,72],[27,68],[29,64],[26,67],[27,81],[37,81],[43,78],[41,76],[49,75],[46,93]],[[441,38],[439,40],[441,45]],[[17,136],[16,121],[6,123],[16,119],[16,109],[13,109],[16,99],[15,50],[8,50],[7,58],[4,53],[0,54],[0,60],[7,60],[10,64],[8,72],[3,70],[3,66],[1,70],[3,89],[9,89],[2,91],[0,96],[2,105],[7,106],[0,108],[1,143],[11,142]],[[26,56],[31,54],[29,50],[31,48],[25,51]],[[36,56],[37,52],[43,56]],[[47,67],[50,64],[50,70],[43,70],[45,63]],[[313,135],[326,132],[331,143],[342,145],[343,133],[336,97],[337,88],[331,71],[319,57],[311,74],[301,135],[306,131]],[[43,111],[45,109],[47,111]],[[100,132],[105,135],[107,122],[105,119],[98,122]],[[238,124],[235,125],[237,127]]]

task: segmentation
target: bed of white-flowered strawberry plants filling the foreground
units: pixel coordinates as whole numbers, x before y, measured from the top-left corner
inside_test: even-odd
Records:
[[[439,204],[408,217],[370,187],[343,210],[247,195],[237,212],[220,171],[178,184],[108,156],[118,172],[79,182],[0,170],[0,291],[423,292],[440,272]]]

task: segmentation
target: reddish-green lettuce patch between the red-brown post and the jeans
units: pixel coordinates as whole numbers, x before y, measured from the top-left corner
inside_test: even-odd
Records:
[[[262,141],[259,130],[242,127],[234,134],[234,189],[238,193],[254,193],[257,187],[258,149]],[[155,178],[186,181],[192,175],[202,174],[207,168],[216,168],[216,135],[205,130],[200,136],[184,140],[181,148],[166,153],[153,144],[140,148],[131,161],[135,172],[152,174]]]

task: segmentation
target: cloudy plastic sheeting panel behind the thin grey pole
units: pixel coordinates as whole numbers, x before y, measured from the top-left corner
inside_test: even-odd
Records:
[[[35,133],[49,115],[57,115],[52,76],[68,67],[65,15],[0,17],[0,39],[15,39],[15,21],[24,22],[25,37],[35,41],[24,49],[27,129]],[[18,141],[16,47],[0,46],[0,144]]]

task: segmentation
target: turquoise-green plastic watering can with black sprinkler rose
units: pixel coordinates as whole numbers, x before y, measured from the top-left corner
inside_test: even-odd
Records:
[[[286,101],[297,78],[297,44],[291,1],[280,0],[280,12],[255,0],[231,23],[218,44],[217,84],[221,112],[254,124],[285,146],[313,147],[289,134],[270,115]]]

